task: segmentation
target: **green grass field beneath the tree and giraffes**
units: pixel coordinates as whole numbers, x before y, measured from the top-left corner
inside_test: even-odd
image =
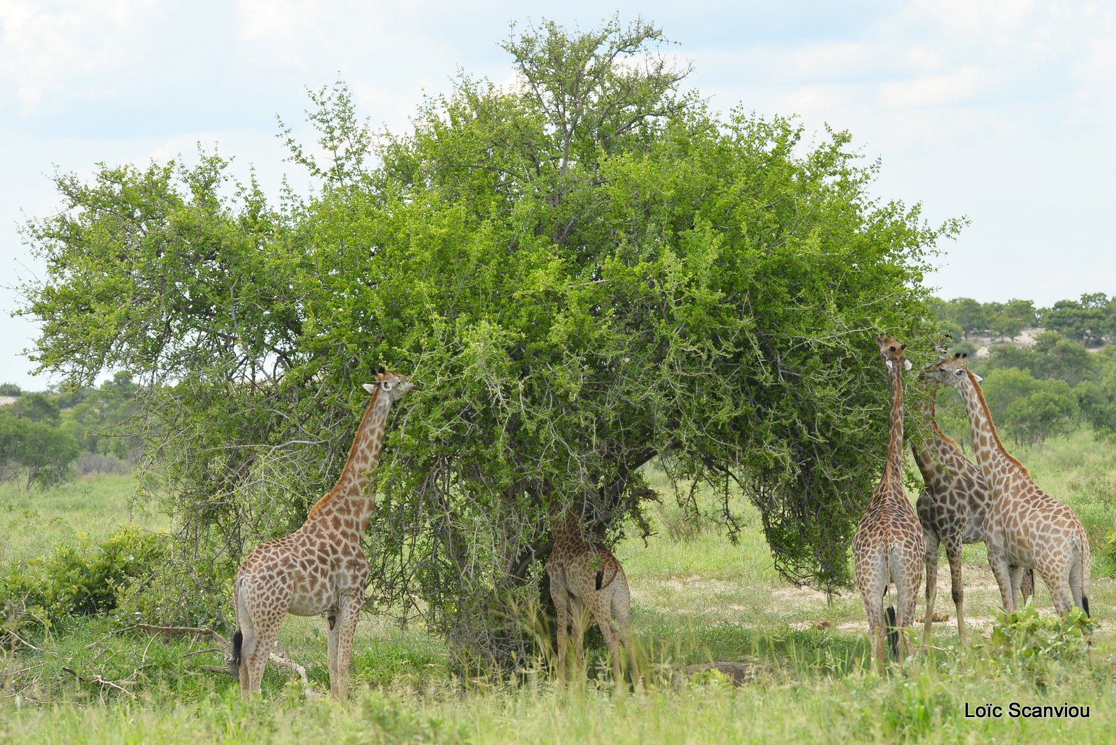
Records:
[[[39,649],[13,644],[0,656],[0,743],[1109,743],[1116,581],[1101,544],[1113,531],[1116,461],[1108,444],[1087,433],[1016,455],[1094,535],[1090,596],[1100,621],[1094,646],[1087,661],[1051,662],[1039,676],[980,646],[999,606],[983,546],[966,550],[964,568],[977,648],[955,648],[943,558],[935,610],[950,621],[935,625],[929,654],[879,678],[865,669],[857,594],[830,601],[781,582],[752,513],[732,545],[712,525],[672,538],[677,509],[667,504],[654,515],[660,531],[646,548],[638,539],[617,548],[633,590],[635,632],[658,680],[641,693],[615,695],[598,680],[596,650],[593,679],[580,686],[558,685],[537,668],[518,685],[458,680],[436,638],[365,616],[347,704],[306,699],[297,678],[271,666],[262,697],[246,705],[231,678],[196,669],[220,661],[198,654],[205,642],[152,640],[100,620],[56,629]],[[83,533],[107,535],[121,522],[162,528],[157,514],[128,512],[129,491],[127,480],[92,480],[49,494],[0,492],[0,561]],[[1045,587],[1038,602],[1051,612]],[[913,637],[917,645],[921,625]],[[324,623],[290,618],[280,642],[316,688],[328,690]],[[718,675],[672,681],[668,674],[682,662],[712,660],[748,661],[757,679],[733,686]],[[1014,718],[1012,703],[1068,703],[1087,706],[1089,716]],[[966,716],[984,704],[1002,706],[1003,715]]]

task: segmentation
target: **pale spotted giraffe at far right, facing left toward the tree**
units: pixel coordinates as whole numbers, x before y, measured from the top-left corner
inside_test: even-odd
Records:
[[[1003,607],[1017,609],[1023,571],[1035,569],[1050,588],[1054,607],[1065,616],[1076,604],[1089,612],[1089,541],[1066,504],[1048,495],[1004,448],[992,423],[981,378],[965,367],[966,355],[946,357],[925,371],[961,395],[973,452],[992,503],[984,517],[984,543]]]

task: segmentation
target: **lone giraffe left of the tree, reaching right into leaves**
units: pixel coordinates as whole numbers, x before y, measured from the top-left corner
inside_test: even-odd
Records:
[[[261,543],[248,554],[233,584],[237,632],[233,665],[244,698],[260,689],[263,664],[287,613],[323,613],[329,626],[329,690],[345,698],[353,633],[364,602],[368,560],[360,536],[375,499],[365,494],[368,472],[379,461],[387,413],[414,388],[406,376],[376,369],[376,383],[337,485],[310,509],[306,522],[285,538]]]

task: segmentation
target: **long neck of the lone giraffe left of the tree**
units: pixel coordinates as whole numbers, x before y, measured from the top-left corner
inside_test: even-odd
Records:
[[[316,516],[345,513],[346,516],[356,519],[358,532],[364,533],[375,506],[375,500],[365,495],[364,490],[368,484],[369,472],[379,463],[391,408],[392,397],[382,395],[377,387],[356,429],[356,436],[353,437],[353,446],[349,447],[348,459],[337,485],[310,509],[307,522]]]

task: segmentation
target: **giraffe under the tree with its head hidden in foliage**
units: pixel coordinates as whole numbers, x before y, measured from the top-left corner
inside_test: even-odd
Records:
[[[547,559],[547,575],[558,621],[558,677],[566,679],[567,625],[573,623],[575,661],[580,668],[585,629],[591,615],[613,658],[614,684],[617,689],[624,685],[619,640],[613,626],[615,617],[632,666],[632,679],[638,685],[639,671],[632,640],[632,598],[624,568],[612,551],[581,536],[580,521],[573,511],[565,517],[552,519],[550,528],[554,548]]]

